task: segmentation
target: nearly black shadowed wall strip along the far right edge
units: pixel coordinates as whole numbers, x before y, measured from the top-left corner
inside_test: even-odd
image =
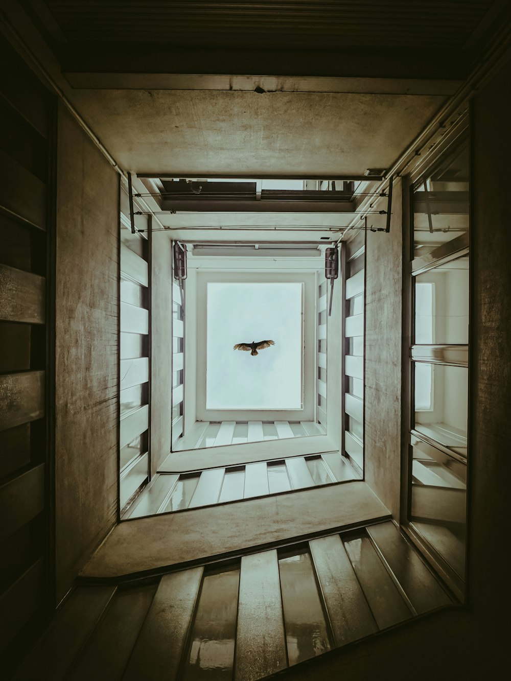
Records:
[[[508,646],[511,63],[473,101],[469,606]]]

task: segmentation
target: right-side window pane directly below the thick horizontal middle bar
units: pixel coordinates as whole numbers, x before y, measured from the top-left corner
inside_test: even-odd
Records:
[[[414,381],[416,430],[466,456],[468,370],[416,362]]]

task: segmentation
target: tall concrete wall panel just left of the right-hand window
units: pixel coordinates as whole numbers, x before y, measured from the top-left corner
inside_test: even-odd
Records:
[[[386,210],[386,199],[377,204]],[[375,227],[385,216],[371,216]],[[394,182],[390,234],[367,232],[365,479],[399,520],[401,475],[402,188]]]

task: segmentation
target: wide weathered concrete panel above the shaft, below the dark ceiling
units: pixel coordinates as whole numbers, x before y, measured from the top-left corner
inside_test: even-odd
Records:
[[[388,168],[440,95],[77,90],[76,107],[136,173],[363,175]]]

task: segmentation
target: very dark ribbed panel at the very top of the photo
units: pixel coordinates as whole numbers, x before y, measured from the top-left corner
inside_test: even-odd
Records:
[[[46,0],[70,43],[304,49],[461,50],[493,4],[484,0]]]

